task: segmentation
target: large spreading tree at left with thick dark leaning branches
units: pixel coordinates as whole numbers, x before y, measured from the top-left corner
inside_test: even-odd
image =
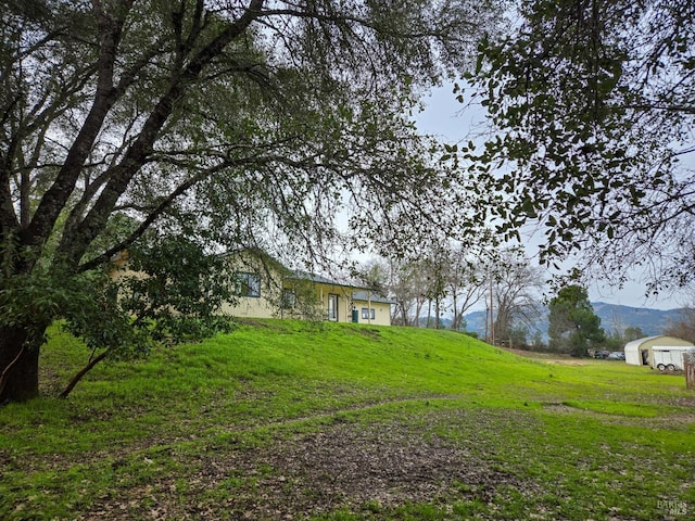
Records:
[[[319,258],[338,239],[399,252],[433,227],[475,232],[456,218],[468,180],[409,114],[494,3],[2,7],[0,401],[37,392],[46,327],[140,243]]]

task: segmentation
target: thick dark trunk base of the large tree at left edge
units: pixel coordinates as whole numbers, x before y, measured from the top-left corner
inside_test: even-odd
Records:
[[[39,394],[39,348],[26,340],[22,329],[0,329],[0,404]]]

